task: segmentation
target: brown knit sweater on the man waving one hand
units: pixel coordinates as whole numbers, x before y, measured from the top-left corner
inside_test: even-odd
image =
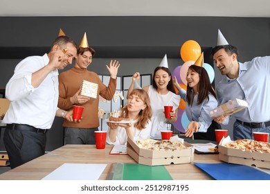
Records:
[[[106,100],[111,100],[116,91],[116,79],[110,78],[109,85],[106,87],[98,77],[98,74],[87,69],[78,69],[73,67],[59,75],[59,100],[60,109],[69,110],[73,108],[70,98],[80,89],[82,80],[98,84],[97,98],[91,98],[87,103],[80,104],[84,107],[82,112],[82,121],[80,123],[69,122],[64,119],[64,127],[76,128],[95,128],[100,125],[98,118],[99,95]]]

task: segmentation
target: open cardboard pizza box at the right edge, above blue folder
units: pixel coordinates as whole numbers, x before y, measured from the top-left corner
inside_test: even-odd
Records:
[[[222,139],[219,144],[219,159],[232,164],[244,164],[246,166],[257,166],[270,169],[270,153],[251,152],[249,150],[239,150],[227,148],[230,137]]]

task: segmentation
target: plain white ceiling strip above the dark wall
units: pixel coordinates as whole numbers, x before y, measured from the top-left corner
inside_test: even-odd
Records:
[[[270,17],[269,0],[0,0],[0,17]]]

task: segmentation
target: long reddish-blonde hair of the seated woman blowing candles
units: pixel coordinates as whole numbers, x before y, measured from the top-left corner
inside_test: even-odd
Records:
[[[150,98],[147,94],[147,92],[143,89],[134,89],[132,92],[129,94],[131,95],[136,95],[138,98],[143,100],[143,103],[145,103],[145,109],[141,109],[141,111],[138,113],[138,122],[134,124],[134,127],[136,127],[138,130],[143,130],[148,121],[150,121],[152,117],[152,108],[150,105]],[[124,115],[125,112],[125,115]],[[122,115],[121,116],[126,116],[128,114],[127,106],[123,107]]]

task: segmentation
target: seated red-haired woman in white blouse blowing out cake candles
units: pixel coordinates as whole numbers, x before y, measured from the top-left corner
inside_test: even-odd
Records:
[[[122,117],[128,116],[132,123],[107,123],[107,143],[124,145],[127,136],[130,139],[150,138],[152,108],[150,98],[143,89],[134,89],[127,99],[127,105],[122,110]]]

